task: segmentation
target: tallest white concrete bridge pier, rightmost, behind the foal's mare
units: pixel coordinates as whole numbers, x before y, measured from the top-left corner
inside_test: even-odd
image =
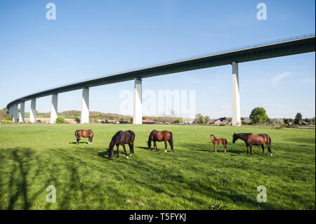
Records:
[[[232,125],[241,126],[238,64],[232,62]]]

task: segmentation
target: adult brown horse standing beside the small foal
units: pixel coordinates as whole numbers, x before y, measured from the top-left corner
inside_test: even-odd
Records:
[[[270,152],[272,156],[271,147],[270,147],[271,138],[267,134],[254,135],[253,133],[238,133],[238,134],[234,133],[234,135],[232,136],[232,143],[235,143],[235,141],[238,138],[244,140],[244,143],[246,143],[247,154],[249,154],[248,147],[250,148],[251,157],[252,157],[252,145],[261,145],[262,154],[263,154],[263,152],[265,151],[265,147],[263,146],[264,143],[268,146],[268,151]]]

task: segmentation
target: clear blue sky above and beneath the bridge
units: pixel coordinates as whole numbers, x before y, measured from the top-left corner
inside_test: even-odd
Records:
[[[56,20],[46,20],[46,4]],[[257,4],[267,20],[257,20]],[[83,79],[226,48],[315,32],[315,1],[0,1],[0,107],[22,95]],[[143,79],[143,90],[196,91],[196,112],[231,116],[230,65]],[[315,117],[315,53],[239,64],[242,117]],[[133,81],[90,90],[90,110],[119,112]],[[29,111],[29,101],[25,110]],[[51,97],[37,110],[49,112]],[[58,112],[81,109],[62,93]]]

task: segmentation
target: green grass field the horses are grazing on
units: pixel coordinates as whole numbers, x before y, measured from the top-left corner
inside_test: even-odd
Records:
[[[72,144],[76,129],[92,129],[93,144]],[[112,136],[128,129],[136,133],[135,154],[126,159],[120,147],[110,161]],[[147,150],[152,129],[173,132],[173,154],[164,143]],[[247,156],[242,140],[232,144],[234,132],[268,133],[273,156],[260,146]],[[228,153],[223,145],[214,152],[211,133],[228,139]],[[315,209],[315,130],[2,124],[0,176],[0,209]],[[48,185],[55,203],[46,202]],[[267,188],[265,203],[257,202],[259,185]]]

